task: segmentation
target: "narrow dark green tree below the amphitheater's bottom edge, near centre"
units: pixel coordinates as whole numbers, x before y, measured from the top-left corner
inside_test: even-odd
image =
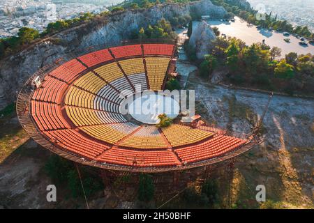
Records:
[[[140,175],[140,186],[137,191],[137,197],[140,201],[151,201],[154,198],[155,187],[153,178],[148,174]]]

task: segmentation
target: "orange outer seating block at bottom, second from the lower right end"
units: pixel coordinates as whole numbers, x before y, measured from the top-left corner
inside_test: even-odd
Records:
[[[167,167],[180,164],[170,150],[135,151],[124,148],[111,148],[100,155],[97,160],[134,167]]]

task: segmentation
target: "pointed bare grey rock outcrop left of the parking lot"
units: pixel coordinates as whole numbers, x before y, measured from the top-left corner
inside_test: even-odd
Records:
[[[216,39],[216,35],[207,22],[197,22],[190,36],[190,45],[195,47],[197,59],[203,59],[205,54],[209,54],[211,41]]]

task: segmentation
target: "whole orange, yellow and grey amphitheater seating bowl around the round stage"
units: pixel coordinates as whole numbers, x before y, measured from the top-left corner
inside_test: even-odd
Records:
[[[121,92],[158,91],[175,72],[175,43],[107,47],[36,72],[17,98],[22,127],[38,144],[103,169],[163,172],[235,157],[255,137],[175,122],[167,128],[121,114]]]

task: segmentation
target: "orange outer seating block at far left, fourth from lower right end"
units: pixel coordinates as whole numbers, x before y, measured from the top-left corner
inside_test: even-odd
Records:
[[[31,116],[41,131],[69,128],[59,105],[54,103],[31,100]]]

